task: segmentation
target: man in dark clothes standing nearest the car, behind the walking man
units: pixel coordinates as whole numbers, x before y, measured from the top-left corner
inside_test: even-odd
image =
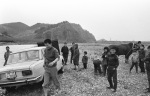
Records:
[[[64,63],[66,65],[67,61],[68,61],[68,54],[69,54],[69,49],[67,47],[67,43],[66,42],[64,43],[64,46],[62,47],[61,52],[63,54]]]

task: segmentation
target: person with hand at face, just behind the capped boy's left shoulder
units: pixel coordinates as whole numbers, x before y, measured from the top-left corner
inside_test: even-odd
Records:
[[[106,69],[107,69],[107,63],[108,63],[108,60],[107,60],[107,57],[108,57],[108,54],[109,54],[109,48],[108,47],[104,47],[104,53],[102,54],[102,69],[103,69],[103,76],[106,76]]]

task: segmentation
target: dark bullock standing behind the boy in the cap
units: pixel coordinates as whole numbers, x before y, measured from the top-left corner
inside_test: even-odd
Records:
[[[132,54],[132,49],[134,47],[134,43],[129,44],[120,44],[120,45],[110,45],[109,49],[112,47],[116,47],[117,55],[125,55],[125,63],[128,63],[129,56]]]

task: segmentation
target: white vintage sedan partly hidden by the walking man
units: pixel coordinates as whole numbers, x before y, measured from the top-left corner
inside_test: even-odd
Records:
[[[10,54],[7,64],[0,68],[0,87],[8,88],[42,82],[45,47],[33,47]],[[57,62],[63,71],[63,57]]]

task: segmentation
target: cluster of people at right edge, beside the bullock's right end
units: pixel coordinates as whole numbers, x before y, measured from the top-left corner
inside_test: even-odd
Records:
[[[136,47],[133,49],[132,55],[131,55],[131,68],[135,66],[136,73],[138,73],[138,66],[141,69],[141,73],[147,72],[147,78],[148,78],[148,88],[146,88],[146,92],[150,92],[150,46],[147,47],[147,50],[145,50],[145,46],[141,44],[141,41],[139,41],[136,44]]]

